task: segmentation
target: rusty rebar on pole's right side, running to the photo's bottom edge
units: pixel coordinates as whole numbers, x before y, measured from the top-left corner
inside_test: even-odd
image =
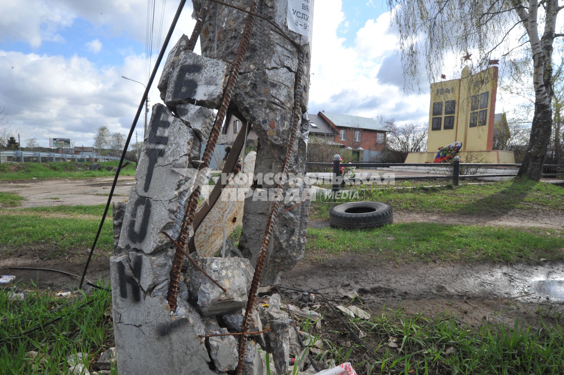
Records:
[[[301,112],[301,100],[303,95],[302,86],[302,76],[303,76],[303,52],[298,51],[298,67],[296,69],[296,81],[294,83],[294,107],[293,112],[293,122],[292,127],[290,127],[290,140],[288,142],[288,149],[286,150],[286,155],[284,156],[284,162],[282,163],[282,169],[280,173],[286,175],[288,173],[288,165],[290,164],[290,158],[292,157],[292,151],[294,149],[294,144],[296,143],[296,136],[298,133],[299,123],[301,122],[301,116],[298,113]],[[281,189],[282,184],[277,184],[276,188]],[[249,298],[247,299],[247,306],[245,309],[245,317],[243,319],[242,332],[249,329],[251,311],[254,306],[255,297],[257,295],[258,285],[261,281],[262,268],[265,265],[266,252],[268,250],[268,245],[270,244],[270,237],[272,236],[272,230],[274,230],[274,222],[279,211],[280,201],[275,200],[272,202],[272,208],[270,209],[270,214],[268,215],[268,222],[266,223],[265,236],[262,239],[261,250],[258,253],[257,265],[254,268],[253,281],[249,290]],[[243,363],[245,359],[245,349],[246,349],[246,338],[241,336],[239,340],[239,361],[237,363],[236,375],[241,375],[243,373]]]

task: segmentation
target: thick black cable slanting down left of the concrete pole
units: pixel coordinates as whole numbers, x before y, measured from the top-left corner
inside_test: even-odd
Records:
[[[104,226],[104,220],[105,220],[106,215],[108,214],[109,205],[112,202],[113,191],[114,191],[114,189],[116,189],[117,178],[120,176],[121,166],[124,164],[125,154],[127,152],[127,148],[129,147],[129,142],[131,141],[131,137],[133,136],[133,132],[135,130],[135,125],[137,124],[137,121],[139,120],[139,116],[140,116],[141,111],[143,109],[143,105],[145,104],[145,101],[147,100],[147,96],[149,95],[149,89],[151,89],[151,85],[153,83],[153,80],[155,80],[158,65],[161,64],[162,57],[165,55],[166,47],[169,45],[170,37],[173,34],[174,28],[176,27],[176,24],[178,22],[178,18],[180,17],[180,13],[182,13],[182,9],[184,8],[185,3],[186,3],[186,0],[180,0],[177,12],[174,15],[174,19],[173,19],[172,23],[170,24],[169,32],[168,32],[168,34],[166,34],[165,41],[162,43],[161,52],[160,52],[160,54],[158,54],[157,61],[155,61],[155,67],[153,68],[153,72],[151,73],[151,77],[149,77],[149,81],[147,82],[147,86],[145,87],[145,92],[143,92],[143,98],[141,99],[141,102],[139,103],[139,107],[137,108],[137,113],[135,113],[135,118],[133,120],[133,123],[131,124],[131,129],[129,130],[129,134],[127,134],[127,139],[125,140],[125,145],[124,145],[124,151],[122,151],[122,153],[121,153],[120,164],[117,166],[116,175],[113,178],[112,188],[109,191],[108,202],[106,202],[104,214],[102,215],[102,220],[100,220],[100,226],[98,227],[98,232],[96,233],[96,237],[94,237],[94,243],[92,244],[92,248],[90,249],[90,254],[88,255],[88,259],[86,260],[84,272],[82,272],[80,284],[78,285],[79,289],[82,289],[82,284],[84,283],[84,279],[86,277],[86,271],[88,271],[88,266],[90,265],[90,259],[92,259],[92,254],[94,253],[94,249],[96,248],[96,243],[98,242],[98,238],[100,237],[100,232],[102,232],[102,227]],[[147,134],[145,136],[147,136]]]

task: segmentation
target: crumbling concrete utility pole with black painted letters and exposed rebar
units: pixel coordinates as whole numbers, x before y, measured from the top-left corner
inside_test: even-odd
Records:
[[[194,0],[199,12],[201,0]],[[287,27],[289,2],[264,0],[259,13],[281,27]],[[248,8],[250,0],[237,6]],[[312,5],[312,0],[310,0]],[[180,223],[186,212],[194,168],[201,147],[206,144],[213,123],[213,112],[221,101],[227,73],[241,39],[247,14],[217,3],[207,3],[209,16],[201,33],[202,56],[187,50],[188,38],[183,35],[170,51],[158,82],[165,105],[153,106],[149,131],[139,160],[127,205],[114,207],[114,252],[111,258],[112,304],[116,359],[120,375],[143,373],[222,374],[237,365],[237,338],[233,336],[199,337],[209,334],[237,332],[242,329],[255,259],[265,231],[266,213],[272,202],[245,201],[244,208],[230,213],[226,232],[241,222],[241,253],[230,251],[230,258],[202,257],[214,255],[220,247],[212,241],[209,249],[198,249],[196,262],[227,291],[212,283],[197,267],[184,262],[180,275],[178,307],[170,311],[166,301],[174,246],[161,232],[178,238]],[[303,95],[299,111],[307,113],[309,81],[309,41],[287,30],[303,50]],[[254,173],[278,173],[288,148],[288,132],[292,126],[294,93],[298,70],[298,51],[293,42],[272,26],[257,19],[239,81],[235,86],[230,111],[243,116],[258,134],[258,150]],[[273,104],[275,103],[275,104]],[[277,104],[276,104],[277,103]],[[307,121],[300,119],[301,125]],[[289,161],[289,171],[303,172],[306,142],[299,138]],[[246,162],[252,162],[249,155]],[[246,169],[246,163],[244,168]],[[253,167],[246,172],[252,173]],[[265,182],[257,189],[274,187]],[[262,282],[277,280],[301,259],[305,248],[305,230],[309,202],[302,201],[307,188],[294,178],[284,184],[284,201],[269,250]],[[294,192],[290,192],[294,189]],[[296,198],[297,197],[297,198]],[[226,204],[230,205],[230,202]],[[232,209],[233,209],[232,208]],[[225,204],[215,208],[222,216]],[[243,213],[241,212],[243,210]],[[212,210],[213,211],[213,210]],[[223,218],[223,217],[222,217]],[[235,218],[235,220],[233,220]],[[218,220],[202,223],[214,233],[221,232]],[[235,221],[235,223],[233,223]],[[209,225],[208,225],[209,224]],[[215,225],[214,225],[215,224]],[[235,225],[231,225],[235,224]],[[228,233],[227,233],[228,234]],[[222,242],[221,236],[221,241]],[[243,254],[246,258],[240,258]],[[195,254],[193,254],[195,255]],[[221,328],[219,323],[221,322]],[[248,339],[244,374],[266,373],[262,350],[272,353],[278,374],[288,371],[289,319],[280,310],[280,298],[271,297],[270,307],[252,312],[251,330],[271,330]],[[262,348],[261,348],[262,347]],[[268,354],[266,354],[268,355]]]

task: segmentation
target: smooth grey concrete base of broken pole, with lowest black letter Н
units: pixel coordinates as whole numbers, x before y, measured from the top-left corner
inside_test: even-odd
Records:
[[[177,315],[170,316],[165,297],[140,288],[141,269],[129,255],[112,257],[110,270],[118,373],[214,374],[205,341],[197,337],[206,332],[195,308],[179,299]]]

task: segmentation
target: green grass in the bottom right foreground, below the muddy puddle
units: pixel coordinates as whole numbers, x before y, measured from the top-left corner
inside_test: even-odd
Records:
[[[448,314],[429,318],[385,307],[369,320],[356,318],[351,323],[357,333],[360,329],[367,334],[362,339],[365,346],[341,326],[316,331],[302,325],[302,330],[322,340],[318,359],[351,361],[359,374],[564,373],[564,332],[558,324],[541,321],[534,328],[515,320],[513,327],[484,323],[470,329]],[[342,339],[336,339],[343,336],[351,343],[343,345]],[[397,348],[388,345],[392,341]]]

